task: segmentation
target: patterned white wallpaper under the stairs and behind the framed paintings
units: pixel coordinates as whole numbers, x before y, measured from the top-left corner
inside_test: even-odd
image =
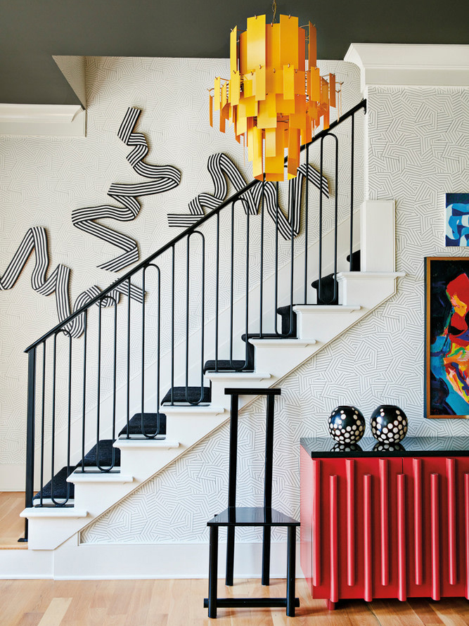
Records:
[[[299,439],[327,435],[336,404],[398,404],[410,435],[469,435],[469,421],[423,417],[423,257],[444,248],[444,193],[469,189],[469,98],[463,89],[368,92],[369,197],[397,201],[397,269],[391,300],[290,374],[276,400],[274,506],[299,514]],[[262,401],[240,420],[238,503],[262,500]],[[223,426],[84,532],[82,542],[207,542],[207,519],[226,506]],[[405,443],[405,441],[404,441]],[[281,539],[279,532],[275,539]],[[259,540],[246,530],[243,539]]]

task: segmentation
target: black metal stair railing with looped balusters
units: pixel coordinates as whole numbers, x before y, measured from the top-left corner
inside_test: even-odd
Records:
[[[59,492],[53,480],[60,464],[65,473],[116,471],[117,451],[103,442],[112,444],[121,426],[127,438],[162,437],[165,404],[210,401],[207,370],[252,370],[250,337],[294,336],[295,304],[337,303],[337,282],[328,300],[322,279],[326,269],[338,272],[339,250],[352,269],[361,110],[366,101],[303,146],[302,178],[286,185],[286,217],[283,186],[251,181],[27,347],[26,506],[72,506],[72,485]],[[133,412],[138,435],[129,428]],[[147,414],[155,416],[152,430]]]

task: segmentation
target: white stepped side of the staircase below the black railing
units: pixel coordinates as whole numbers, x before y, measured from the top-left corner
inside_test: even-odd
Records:
[[[341,272],[338,274],[340,300],[335,307],[299,305],[296,339],[250,339],[255,346],[255,372],[207,373],[212,384],[212,404],[198,407],[165,407],[165,440],[117,440],[121,449],[120,473],[82,475],[74,473],[74,508],[25,509],[29,519],[32,550],[53,550],[96,520],[111,506],[152,480],[200,440],[229,419],[226,387],[269,388],[311,359],[347,328],[370,314],[396,293],[399,272]],[[279,357],[280,355],[280,357]],[[256,397],[240,396],[240,410]],[[105,488],[103,488],[105,487]]]

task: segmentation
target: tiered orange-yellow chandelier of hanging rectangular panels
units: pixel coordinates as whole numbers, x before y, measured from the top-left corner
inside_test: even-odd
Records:
[[[266,24],[265,15],[256,15],[245,31],[231,31],[230,77],[215,78],[210,125],[213,109],[219,110],[221,132],[228,120],[236,141],[243,137],[253,176],[283,181],[285,148],[290,179],[300,165],[300,146],[311,141],[321,119],[329,127],[335,99],[335,75],[327,80],[316,67],[316,27],[298,27],[290,15]]]

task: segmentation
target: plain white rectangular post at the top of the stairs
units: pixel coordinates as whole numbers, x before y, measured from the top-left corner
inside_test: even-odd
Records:
[[[366,200],[361,205],[361,272],[395,272],[394,213],[394,200]]]

